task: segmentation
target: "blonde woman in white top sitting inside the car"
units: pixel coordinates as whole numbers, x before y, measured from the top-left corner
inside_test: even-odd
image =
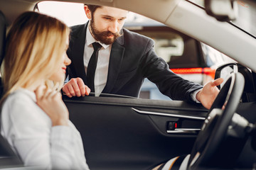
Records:
[[[59,92],[70,64],[69,32],[55,18],[26,12],[7,35],[1,135],[25,166],[88,169],[80,133]]]

